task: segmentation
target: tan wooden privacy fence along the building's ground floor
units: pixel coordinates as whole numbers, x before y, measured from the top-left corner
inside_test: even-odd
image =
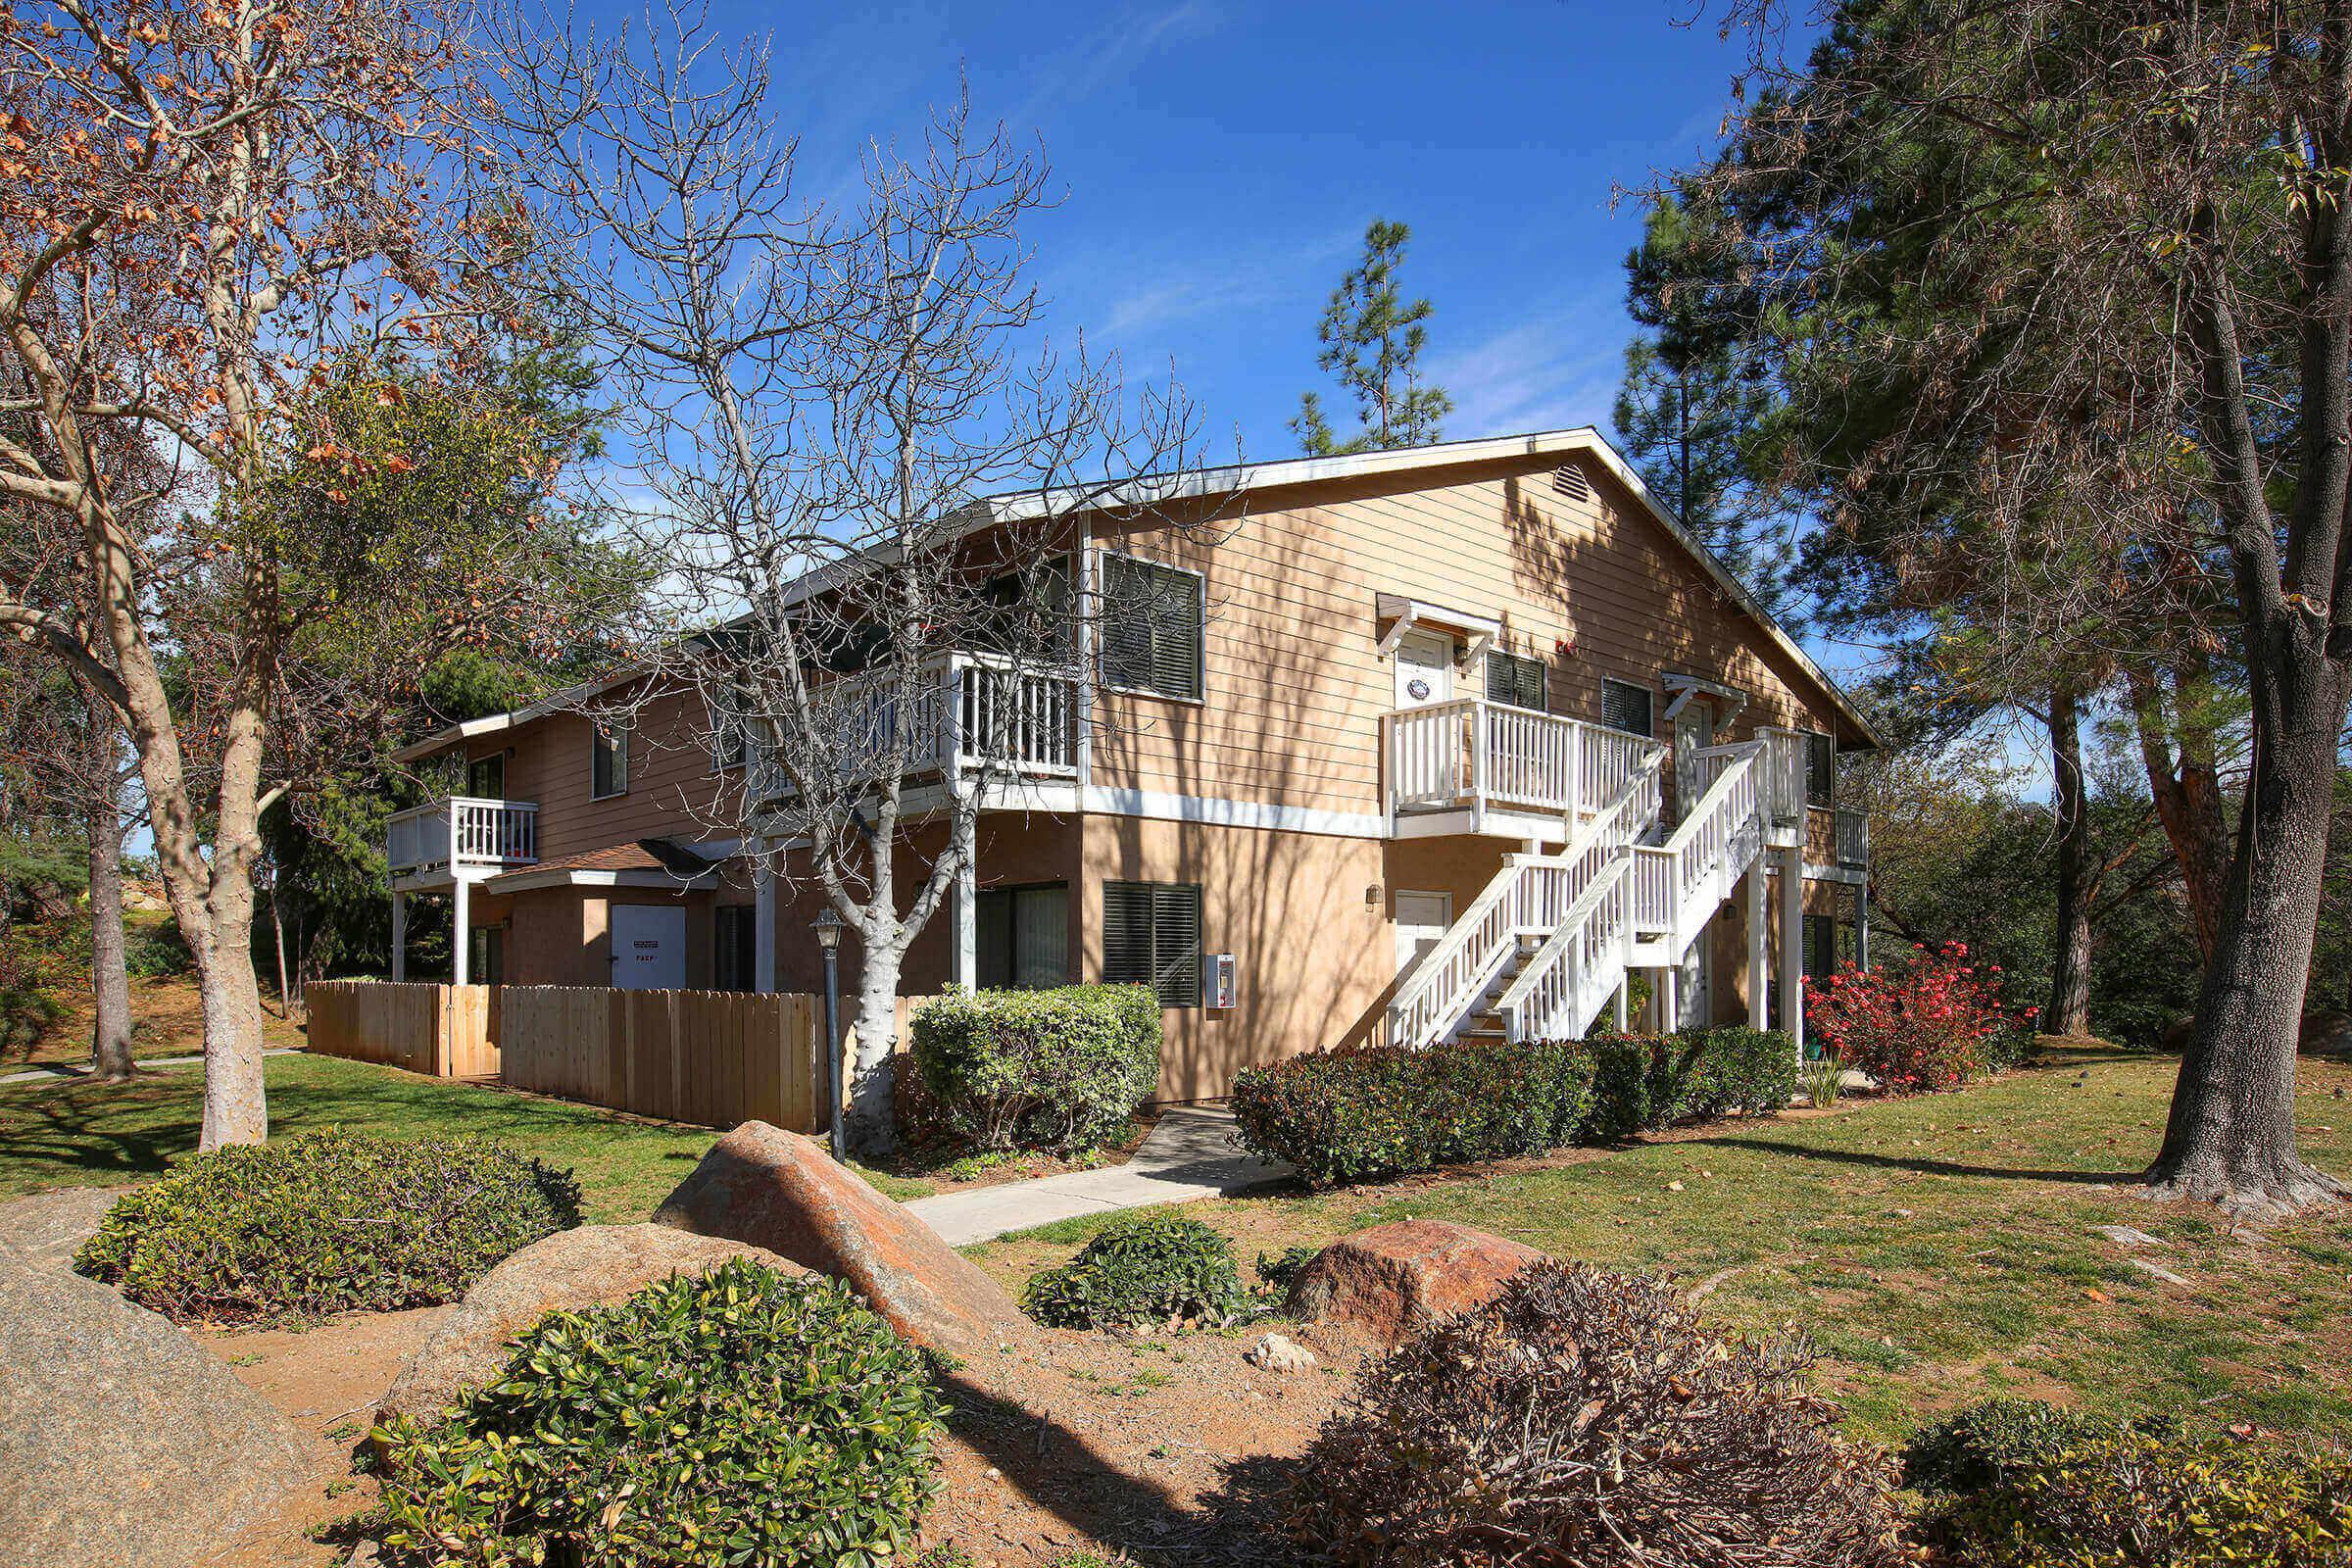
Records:
[[[492,1077],[510,1088],[609,1105],[637,1117],[795,1133],[830,1126],[826,1001],[800,992],[637,992],[602,985],[310,987],[310,1048],[440,1077]],[[901,1079],[908,1018],[929,997],[898,997]],[[842,1060],[856,1056],[842,1001]],[[485,1065],[487,1063],[487,1065]]]

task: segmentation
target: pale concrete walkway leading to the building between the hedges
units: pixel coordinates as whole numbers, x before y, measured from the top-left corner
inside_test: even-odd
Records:
[[[1244,1154],[1232,1147],[1230,1138],[1232,1112],[1176,1105],[1160,1114],[1160,1124],[1124,1166],[1065,1171],[1033,1182],[1004,1182],[971,1192],[941,1192],[915,1199],[908,1208],[922,1215],[922,1222],[936,1229],[948,1246],[969,1246],[1084,1213],[1190,1204],[1277,1182],[1291,1173],[1282,1161]]]

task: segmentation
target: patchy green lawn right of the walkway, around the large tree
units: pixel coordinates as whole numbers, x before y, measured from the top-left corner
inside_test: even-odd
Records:
[[[2352,1206],[2267,1234],[2119,1190],[2154,1152],[2176,1063],[2060,1051],[2039,1072],[1830,1117],[1733,1121],[1578,1164],[1190,1208],[1272,1253],[1442,1218],[1557,1258],[1705,1281],[1726,1326],[1799,1324],[1858,1432],[1898,1436],[1992,1392],[2117,1410],[2197,1408],[2352,1434]],[[2305,1152],[2352,1171],[2352,1067],[2303,1063]],[[1670,1182],[1682,1182],[1672,1190]],[[2131,1267],[2093,1225],[2133,1225],[2187,1276]],[[1073,1220],[969,1248],[1007,1281],[1098,1229]]]

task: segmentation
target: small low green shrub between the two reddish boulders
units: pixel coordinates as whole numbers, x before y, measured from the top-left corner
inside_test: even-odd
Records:
[[[1223,1328],[1258,1305],[1232,1262],[1232,1244],[1176,1213],[1112,1220],[1077,1258],[1033,1274],[1021,1298],[1021,1307],[1051,1328]]]

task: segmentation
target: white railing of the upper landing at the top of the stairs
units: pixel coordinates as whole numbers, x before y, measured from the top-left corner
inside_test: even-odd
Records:
[[[1454,698],[1383,715],[1388,811],[1597,811],[1665,748],[1604,724]]]

